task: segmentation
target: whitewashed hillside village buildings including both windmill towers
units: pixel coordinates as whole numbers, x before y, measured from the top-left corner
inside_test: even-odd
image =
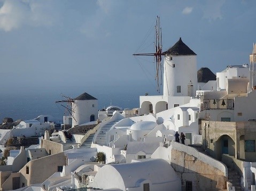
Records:
[[[197,70],[197,55],[181,38],[164,54],[163,95],[140,96],[139,108],[112,116],[98,115],[95,97],[78,96],[64,118],[72,118],[68,132],[95,126],[72,137],[45,131],[37,147],[10,152],[0,167],[2,190],[255,190],[254,53],[249,64],[216,76]],[[176,132],[185,144],[175,142]]]

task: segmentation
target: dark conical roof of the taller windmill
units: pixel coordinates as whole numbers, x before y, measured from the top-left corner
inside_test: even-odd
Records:
[[[169,55],[197,55],[193,52],[183,41],[181,38],[173,47],[169,48],[166,52],[162,53],[165,56]]]

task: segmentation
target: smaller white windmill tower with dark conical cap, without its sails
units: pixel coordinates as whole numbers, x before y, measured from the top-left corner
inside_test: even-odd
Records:
[[[83,93],[73,99],[72,127],[98,119],[98,99]]]

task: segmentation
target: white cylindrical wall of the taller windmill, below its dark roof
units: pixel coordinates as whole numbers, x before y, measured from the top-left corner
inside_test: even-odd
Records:
[[[164,96],[188,96],[188,85],[193,85],[192,95],[197,90],[197,60],[196,55],[165,57],[164,64]],[[177,93],[181,86],[181,93]]]

